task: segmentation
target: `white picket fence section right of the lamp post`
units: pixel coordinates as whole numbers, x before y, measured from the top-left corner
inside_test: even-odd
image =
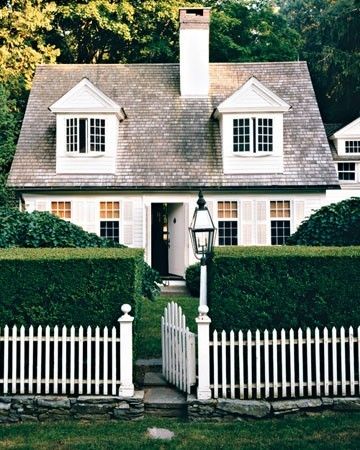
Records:
[[[360,327],[214,331],[209,345],[214,398],[359,395]]]

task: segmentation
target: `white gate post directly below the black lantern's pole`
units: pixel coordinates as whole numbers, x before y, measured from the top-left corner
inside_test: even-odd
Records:
[[[209,308],[206,305],[199,306],[199,316],[195,319],[198,326],[198,390],[199,400],[209,400],[210,390],[210,323],[207,315]]]

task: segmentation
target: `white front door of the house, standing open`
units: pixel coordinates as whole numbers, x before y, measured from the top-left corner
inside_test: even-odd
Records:
[[[169,274],[185,275],[185,208],[183,203],[168,203]]]

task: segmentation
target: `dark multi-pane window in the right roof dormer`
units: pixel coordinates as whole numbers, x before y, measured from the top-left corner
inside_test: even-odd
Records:
[[[235,153],[269,153],[273,151],[273,119],[233,119]]]

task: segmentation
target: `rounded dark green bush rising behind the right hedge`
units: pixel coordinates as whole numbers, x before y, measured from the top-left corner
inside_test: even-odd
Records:
[[[360,198],[323,206],[302,222],[287,245],[360,245]]]

